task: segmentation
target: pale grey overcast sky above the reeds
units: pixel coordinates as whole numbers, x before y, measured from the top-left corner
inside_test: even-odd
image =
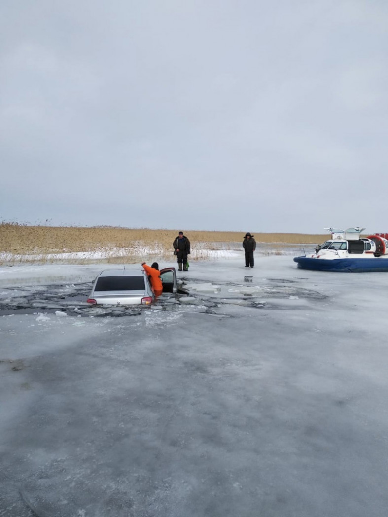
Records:
[[[386,0],[2,0],[0,218],[388,232]]]

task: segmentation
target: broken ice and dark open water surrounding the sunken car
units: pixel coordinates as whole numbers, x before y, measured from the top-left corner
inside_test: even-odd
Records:
[[[286,305],[288,302],[290,308],[295,309],[303,305],[303,300],[325,298],[322,293],[292,285],[294,283],[287,279],[255,279],[252,275],[245,275],[237,283],[213,283],[206,279],[185,278],[183,282],[182,279],[179,282],[181,292],[163,294],[153,304],[153,308],[159,312],[195,311],[210,314],[220,313],[231,305],[264,307],[263,299],[268,302],[271,300],[270,305],[267,305],[269,308],[279,307],[279,304]],[[68,316],[122,317],[141,315],[150,310],[141,306],[91,306],[86,302],[90,290],[90,282],[3,287],[0,290],[0,315],[10,312],[32,314],[39,311],[57,316],[65,313]],[[155,315],[155,311],[152,314]]]

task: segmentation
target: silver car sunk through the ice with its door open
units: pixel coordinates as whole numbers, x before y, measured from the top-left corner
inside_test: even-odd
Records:
[[[177,290],[174,267],[160,270],[163,293]],[[105,269],[96,278],[88,303],[93,305],[150,305],[155,300],[143,269]]]

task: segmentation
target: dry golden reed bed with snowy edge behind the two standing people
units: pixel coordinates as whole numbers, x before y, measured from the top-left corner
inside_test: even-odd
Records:
[[[28,226],[3,222],[0,223],[0,252],[3,255],[3,263],[58,262],[63,253],[81,254],[70,260],[85,263],[92,260],[88,260],[86,255],[82,257],[82,253],[98,250],[111,250],[109,258],[102,259],[105,262],[136,262],[138,257],[144,254],[144,250],[152,250],[152,254],[159,258],[170,259],[172,242],[178,231],[179,229],[152,230],[111,226]],[[199,230],[185,232],[192,248],[198,250],[219,249],[220,243],[226,247],[241,245],[244,233]],[[257,242],[266,244],[315,245],[327,237],[297,233],[251,233],[255,235]],[[205,253],[199,252],[197,258],[206,258]],[[95,260],[94,258],[93,262]]]

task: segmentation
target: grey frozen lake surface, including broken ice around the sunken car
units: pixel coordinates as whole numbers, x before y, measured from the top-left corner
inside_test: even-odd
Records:
[[[388,274],[243,265],[128,310],[0,268],[1,516],[386,516]]]

